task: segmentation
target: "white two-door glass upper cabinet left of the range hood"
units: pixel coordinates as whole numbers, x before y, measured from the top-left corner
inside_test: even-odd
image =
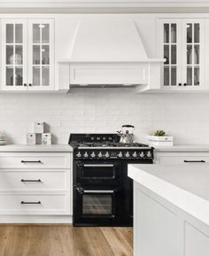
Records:
[[[54,89],[51,19],[2,20],[2,89]]]

